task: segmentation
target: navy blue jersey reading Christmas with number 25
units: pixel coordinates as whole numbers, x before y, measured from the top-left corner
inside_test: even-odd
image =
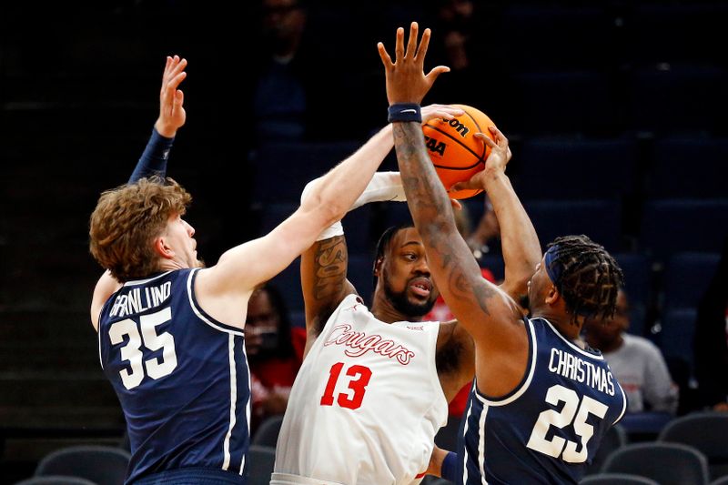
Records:
[[[490,399],[473,383],[458,442],[460,484],[577,483],[626,409],[600,352],[580,349],[544,318],[524,323],[530,352],[519,386]]]

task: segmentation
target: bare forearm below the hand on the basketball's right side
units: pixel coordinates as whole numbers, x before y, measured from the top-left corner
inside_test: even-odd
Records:
[[[539,237],[505,173],[488,174],[485,189],[501,227],[506,289],[512,297],[520,297],[541,261]]]

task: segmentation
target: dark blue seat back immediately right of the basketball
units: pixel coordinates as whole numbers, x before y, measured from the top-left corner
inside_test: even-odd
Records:
[[[520,173],[514,186],[523,200],[616,199],[634,188],[637,145],[628,139],[532,139],[514,165]]]

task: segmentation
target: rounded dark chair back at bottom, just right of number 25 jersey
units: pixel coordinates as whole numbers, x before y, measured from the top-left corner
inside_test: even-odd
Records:
[[[602,472],[629,473],[661,485],[707,485],[708,462],[703,453],[677,443],[638,443],[614,451]]]

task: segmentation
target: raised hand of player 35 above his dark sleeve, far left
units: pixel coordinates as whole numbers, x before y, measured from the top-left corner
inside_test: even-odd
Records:
[[[187,59],[180,59],[179,56],[167,56],[165,73],[162,76],[162,89],[159,92],[159,117],[155,128],[159,135],[172,138],[177,134],[177,129],[185,124],[187,114],[183,105],[185,95],[179,84],[187,77],[185,72]]]

